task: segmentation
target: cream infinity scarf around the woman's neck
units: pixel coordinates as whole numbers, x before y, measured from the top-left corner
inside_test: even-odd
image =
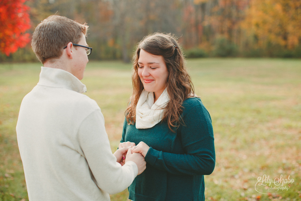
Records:
[[[159,123],[168,102],[166,88],[155,103],[154,93],[143,90],[136,106],[136,128],[151,128]]]

